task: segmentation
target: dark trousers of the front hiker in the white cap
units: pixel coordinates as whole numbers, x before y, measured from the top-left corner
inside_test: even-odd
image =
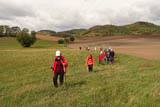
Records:
[[[58,75],[60,75],[60,85],[63,85],[63,77],[64,77],[64,72],[55,72],[54,77],[53,77],[53,84],[55,87],[58,87],[58,83],[57,83],[57,79],[58,79]]]

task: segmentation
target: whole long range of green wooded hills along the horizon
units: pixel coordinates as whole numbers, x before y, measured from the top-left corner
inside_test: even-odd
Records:
[[[47,31],[47,30],[45,30]],[[54,33],[53,33],[54,32]],[[39,31],[42,33],[42,31]],[[43,30],[44,33],[44,30]],[[97,25],[89,29],[72,29],[63,32],[49,31],[52,36],[113,36],[113,35],[152,35],[160,34],[160,26],[148,22],[136,22],[124,26]]]

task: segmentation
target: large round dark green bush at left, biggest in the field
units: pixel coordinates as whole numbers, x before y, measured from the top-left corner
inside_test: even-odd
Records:
[[[29,35],[26,31],[18,33],[16,39],[23,47],[30,47],[36,42],[36,36]]]

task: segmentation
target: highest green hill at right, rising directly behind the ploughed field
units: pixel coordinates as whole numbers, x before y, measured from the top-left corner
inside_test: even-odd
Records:
[[[160,26],[148,22],[136,22],[124,26],[94,26],[81,36],[113,36],[113,35],[151,35],[160,34]]]

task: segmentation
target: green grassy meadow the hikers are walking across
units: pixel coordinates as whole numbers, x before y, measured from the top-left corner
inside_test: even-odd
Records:
[[[50,66],[57,49],[69,66],[67,84],[54,88]],[[85,65],[89,53],[96,62],[92,73]],[[116,54],[115,64],[98,65],[97,57],[98,52],[63,48],[48,41],[23,49],[15,39],[0,38],[0,106],[160,106],[160,61]]]

